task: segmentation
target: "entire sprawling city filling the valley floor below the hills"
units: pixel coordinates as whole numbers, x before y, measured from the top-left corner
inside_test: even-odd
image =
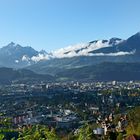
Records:
[[[72,139],[90,127],[96,139],[116,133],[125,137],[130,112],[139,105],[138,81],[12,83],[0,86],[0,120],[5,121],[0,127],[43,125],[60,138]]]

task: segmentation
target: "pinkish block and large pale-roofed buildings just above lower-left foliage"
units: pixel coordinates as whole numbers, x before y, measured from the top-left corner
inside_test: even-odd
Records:
[[[69,109],[55,110],[49,109],[46,114],[33,115],[32,111],[27,111],[24,114],[18,114],[12,118],[14,126],[24,126],[33,124],[46,124],[49,127],[55,128],[72,128],[78,123],[76,113]]]

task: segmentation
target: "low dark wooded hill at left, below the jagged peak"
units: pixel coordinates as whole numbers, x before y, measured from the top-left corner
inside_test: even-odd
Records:
[[[54,81],[54,77],[50,75],[36,74],[26,69],[14,70],[12,68],[0,68],[0,84],[10,84],[12,81],[34,83],[37,81]]]

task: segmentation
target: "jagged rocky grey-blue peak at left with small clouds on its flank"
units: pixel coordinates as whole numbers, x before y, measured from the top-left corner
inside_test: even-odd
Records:
[[[38,52],[30,46],[22,47],[11,42],[7,46],[0,48],[0,66],[23,68],[40,61],[46,54],[45,51]]]

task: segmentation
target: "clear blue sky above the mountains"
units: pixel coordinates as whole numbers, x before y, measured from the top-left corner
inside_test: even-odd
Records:
[[[0,46],[48,52],[140,31],[140,0],[0,0]]]

